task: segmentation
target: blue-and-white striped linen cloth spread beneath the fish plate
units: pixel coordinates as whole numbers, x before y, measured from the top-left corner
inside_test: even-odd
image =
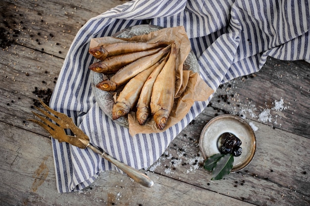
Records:
[[[257,72],[268,56],[310,62],[308,0],[133,0],[90,19],[64,60],[50,106],[72,117],[93,145],[137,169],[152,165],[169,143],[206,106],[195,102],[176,125],[157,134],[129,135],[109,119],[92,91],[88,53],[92,38],[111,36],[146,21],[183,25],[197,56],[200,75],[215,91],[220,84]],[[119,169],[92,151],[52,139],[59,193],[89,186],[104,170]],[[121,171],[120,171],[121,172]]]

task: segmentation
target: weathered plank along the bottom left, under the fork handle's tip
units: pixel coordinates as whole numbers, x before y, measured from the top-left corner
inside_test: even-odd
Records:
[[[0,122],[8,135],[0,139],[0,202],[5,206],[50,205],[251,205],[191,184],[150,173],[155,185],[145,188],[116,172],[103,172],[93,186],[58,194],[51,140]],[[32,147],[30,147],[32,145]]]

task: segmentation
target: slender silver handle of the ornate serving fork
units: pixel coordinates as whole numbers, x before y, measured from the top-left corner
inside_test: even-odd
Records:
[[[125,172],[129,177],[131,177],[135,182],[138,182],[139,184],[145,186],[145,187],[152,187],[154,185],[154,182],[148,177],[146,174],[143,174],[139,170],[124,164],[117,159],[114,159],[109,154],[106,154],[105,152],[99,150],[98,148],[94,147],[90,143],[87,144],[88,148],[92,149],[95,153],[100,154],[103,158],[108,160],[109,162],[113,163],[115,166],[120,168],[123,172]]]

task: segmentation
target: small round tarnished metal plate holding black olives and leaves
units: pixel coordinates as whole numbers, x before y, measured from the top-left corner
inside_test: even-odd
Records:
[[[200,135],[200,150],[205,159],[213,154],[219,154],[218,141],[223,133],[232,133],[237,136],[242,144],[240,156],[234,156],[232,172],[239,171],[247,166],[256,152],[256,137],[251,126],[242,118],[223,114],[211,119]]]

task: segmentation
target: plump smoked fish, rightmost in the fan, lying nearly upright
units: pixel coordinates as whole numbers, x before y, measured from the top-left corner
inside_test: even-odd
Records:
[[[175,63],[178,51],[178,46],[173,43],[169,59],[158,74],[152,90],[151,112],[159,130],[164,129],[174,103]]]

